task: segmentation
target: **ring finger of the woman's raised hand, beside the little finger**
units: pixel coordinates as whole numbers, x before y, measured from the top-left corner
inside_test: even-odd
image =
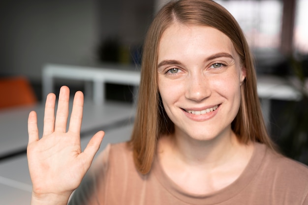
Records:
[[[45,103],[43,136],[49,135],[54,132],[55,104],[56,104],[56,95],[54,93],[49,93],[47,95]]]

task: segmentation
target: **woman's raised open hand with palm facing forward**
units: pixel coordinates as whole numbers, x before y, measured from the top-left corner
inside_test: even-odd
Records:
[[[67,204],[70,194],[86,174],[97,152],[104,132],[97,132],[82,152],[80,128],[83,93],[75,93],[68,130],[69,88],[60,89],[57,114],[56,96],[48,94],[45,105],[43,136],[39,139],[36,113],[28,119],[28,164],[32,180],[31,204]]]

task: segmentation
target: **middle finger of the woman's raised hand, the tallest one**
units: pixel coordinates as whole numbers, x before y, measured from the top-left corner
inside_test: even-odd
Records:
[[[55,131],[66,132],[69,103],[69,88],[62,86],[60,88],[58,109],[55,122]]]

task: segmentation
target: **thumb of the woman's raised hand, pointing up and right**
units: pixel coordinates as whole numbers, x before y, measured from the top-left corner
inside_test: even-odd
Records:
[[[85,148],[84,152],[82,153],[81,157],[83,157],[83,161],[87,162],[87,167],[91,166],[93,158],[96,152],[99,149],[99,146],[103,140],[105,133],[103,131],[97,132],[88,143],[87,147]]]

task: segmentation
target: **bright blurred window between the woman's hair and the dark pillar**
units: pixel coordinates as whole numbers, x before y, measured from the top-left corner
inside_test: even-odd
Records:
[[[216,0],[239,22],[252,48],[279,48],[281,0]]]

